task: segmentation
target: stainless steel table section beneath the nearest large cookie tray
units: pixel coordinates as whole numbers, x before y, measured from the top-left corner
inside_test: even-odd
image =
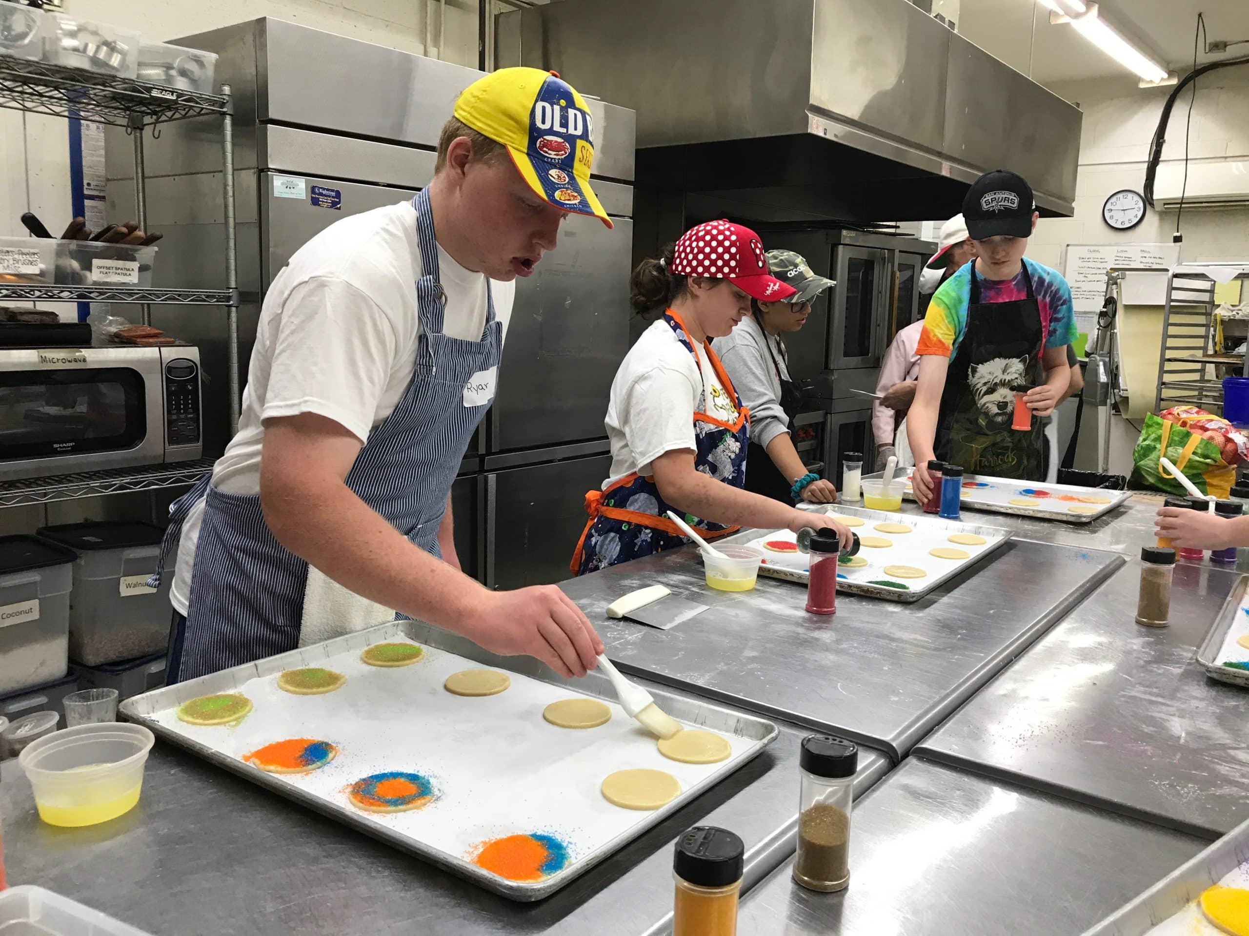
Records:
[[[753,761],[537,904],[488,894],[165,743],[139,805],[87,829],[44,825],[30,784],[5,761],[4,856],[10,884],[42,885],[157,936],[641,936],[667,926],[672,844],[687,827],[741,835],[747,887],[793,854],[804,734],[782,724]],[[888,769],[864,750],[856,792]]]

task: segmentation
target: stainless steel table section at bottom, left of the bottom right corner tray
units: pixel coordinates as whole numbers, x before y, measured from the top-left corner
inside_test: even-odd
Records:
[[[909,758],[856,804],[851,884],[813,894],[793,860],[742,902],[749,936],[1078,934],[1207,842]]]

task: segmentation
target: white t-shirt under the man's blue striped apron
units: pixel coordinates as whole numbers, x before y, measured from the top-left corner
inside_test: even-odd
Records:
[[[423,275],[410,202],[336,221],[300,247],[274,278],[256,328],[239,433],[212,468],[231,494],[260,493],[264,421],[317,413],[361,442],[398,406],[416,364],[421,321],[416,281]],[[438,247],[447,293],[442,331],[477,341],[486,327],[486,276]],[[507,333],[515,283],[491,283],[495,316]],[[186,614],[204,503],[182,525],[170,602]]]

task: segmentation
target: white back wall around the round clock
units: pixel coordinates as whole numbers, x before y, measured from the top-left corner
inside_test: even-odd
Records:
[[[1170,89],[1137,87],[1135,80],[1099,79],[1054,84],[1050,90],[1079,104],[1084,111],[1075,216],[1043,220],[1029,255],[1060,268],[1068,243],[1169,243],[1175,212],[1149,211],[1132,231],[1114,231],[1102,220],[1102,205],[1119,188],[1140,191],[1145,178],[1149,141]],[[1172,110],[1163,150],[1165,163],[1184,158],[1184,127],[1190,89]],[[1249,156],[1249,66],[1215,71],[1198,79],[1197,104],[1189,134],[1190,165]],[[1185,208],[1180,232],[1180,260],[1249,260],[1249,208]]]

